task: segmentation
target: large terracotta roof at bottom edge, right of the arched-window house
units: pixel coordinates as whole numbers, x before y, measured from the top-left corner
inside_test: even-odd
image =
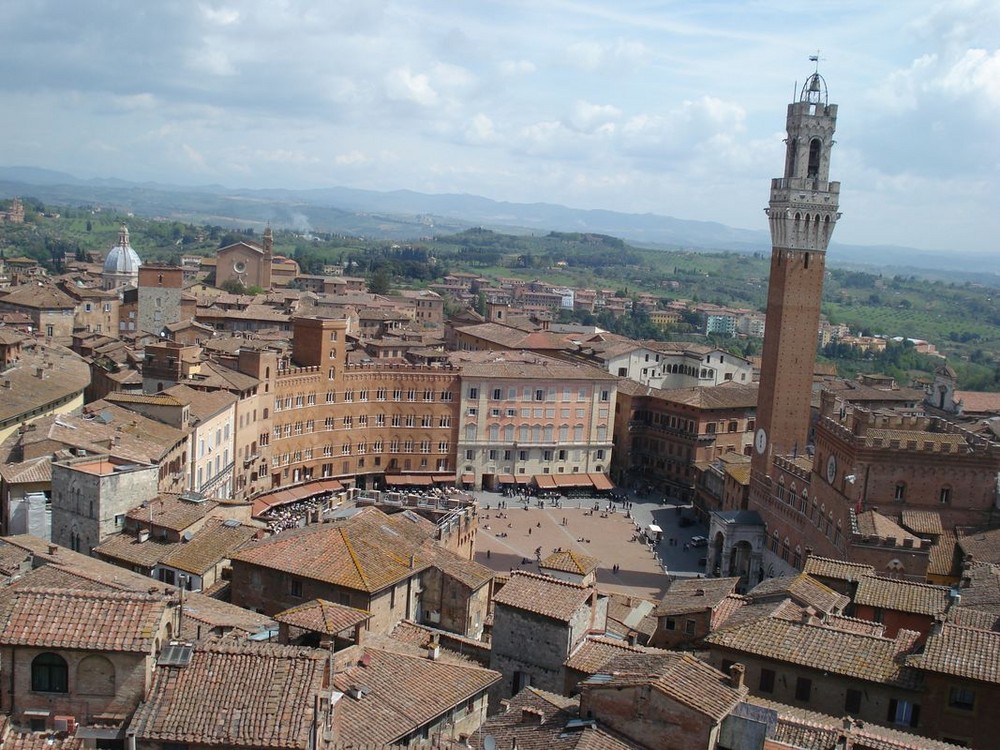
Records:
[[[197,646],[185,667],[158,667],[129,727],[140,742],[306,747],[329,655],[249,642]]]

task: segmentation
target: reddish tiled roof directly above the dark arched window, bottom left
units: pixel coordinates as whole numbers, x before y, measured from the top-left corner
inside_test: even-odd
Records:
[[[0,608],[0,643],[148,653],[166,608],[148,593],[16,589]]]

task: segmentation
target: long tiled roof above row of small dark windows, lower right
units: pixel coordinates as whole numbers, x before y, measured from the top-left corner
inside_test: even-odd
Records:
[[[917,633],[900,630],[895,640],[820,625],[768,617],[710,634],[710,647],[754,654],[825,672],[883,684],[912,686],[903,663]]]

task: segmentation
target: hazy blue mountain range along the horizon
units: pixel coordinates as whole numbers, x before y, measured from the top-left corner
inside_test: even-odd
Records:
[[[0,196],[32,196],[47,204],[100,205],[141,216],[222,226],[270,222],[303,232],[335,232],[384,239],[415,239],[481,226],[523,233],[595,232],[642,246],[692,250],[769,252],[764,230],[734,229],[712,221],[657,214],[580,210],[551,203],[507,203],[475,195],[428,195],[411,190],[377,192],[333,187],[313,190],[179,186],[119,179],[80,179],[35,167],[0,167]],[[897,246],[832,243],[837,265],[907,270],[974,268],[1000,274],[1000,258]],[[877,258],[877,265],[873,259]]]

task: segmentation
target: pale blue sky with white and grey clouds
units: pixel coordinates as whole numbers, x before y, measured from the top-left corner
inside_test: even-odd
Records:
[[[0,164],[472,193],[765,229],[840,105],[836,239],[995,251],[997,0],[5,0]]]

